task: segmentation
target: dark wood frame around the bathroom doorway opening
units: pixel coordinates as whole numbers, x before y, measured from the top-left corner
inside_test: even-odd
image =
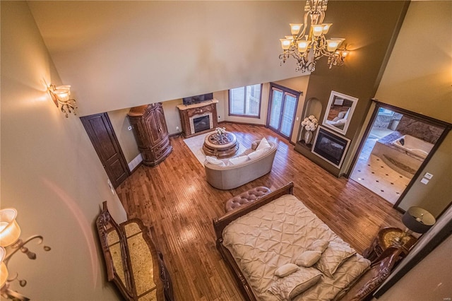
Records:
[[[372,126],[374,125],[376,116],[378,115],[380,108],[391,110],[393,112],[398,112],[400,114],[407,115],[413,119],[418,119],[418,120],[428,123],[428,124],[433,124],[435,126],[444,127],[444,131],[439,136],[438,141],[436,141],[436,143],[434,144],[432,151],[429,152],[429,154],[427,155],[427,158],[424,159],[424,162],[422,162],[420,167],[417,169],[417,172],[415,173],[415,175],[413,175],[412,179],[410,180],[410,183],[408,183],[407,187],[405,187],[405,190],[400,194],[396,203],[394,203],[393,208],[395,208],[396,210],[398,210],[402,213],[405,213],[405,211],[402,208],[400,208],[398,205],[400,204],[401,201],[403,201],[405,196],[408,194],[408,191],[410,191],[412,185],[415,184],[415,182],[417,181],[417,178],[420,177],[424,168],[427,166],[427,163],[429,163],[429,160],[432,158],[434,153],[436,153],[436,150],[439,148],[441,143],[443,143],[448,132],[452,129],[452,124],[449,124],[448,122],[443,122],[439,119],[428,117],[428,116],[425,116],[425,115],[422,115],[422,114],[419,114],[416,112],[405,110],[401,107],[395,107],[393,105],[388,105],[388,104],[386,104],[384,102],[380,102],[379,100],[376,100],[376,99],[372,99],[372,102],[375,104],[374,112],[372,112],[372,114],[371,114],[369,123],[367,124],[366,130],[364,131],[364,135],[362,136],[362,139],[359,142],[357,151],[356,151],[355,155],[353,156],[352,164],[350,165],[350,169],[347,171],[347,174],[345,175],[345,177],[347,177],[347,179],[350,178],[352,171],[355,170],[355,166],[356,166],[356,163],[358,162],[359,155],[361,155],[362,148],[364,148],[364,143],[366,143],[366,140],[369,137],[370,131],[372,129]]]

